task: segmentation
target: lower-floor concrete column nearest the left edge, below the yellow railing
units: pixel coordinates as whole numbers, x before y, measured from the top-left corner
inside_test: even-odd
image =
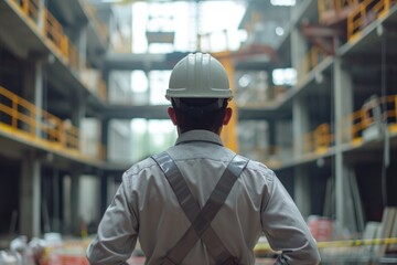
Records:
[[[20,233],[41,236],[41,163],[33,151],[22,159],[20,187]]]

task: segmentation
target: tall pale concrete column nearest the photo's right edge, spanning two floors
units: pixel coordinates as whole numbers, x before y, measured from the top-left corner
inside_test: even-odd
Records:
[[[343,127],[342,120],[353,112],[353,83],[347,71],[343,68],[342,60],[334,59],[334,124],[335,124],[335,208],[337,220],[337,233],[342,233],[346,227],[346,205],[345,182],[348,169],[343,161],[342,144],[344,142],[343,134],[346,128]]]

